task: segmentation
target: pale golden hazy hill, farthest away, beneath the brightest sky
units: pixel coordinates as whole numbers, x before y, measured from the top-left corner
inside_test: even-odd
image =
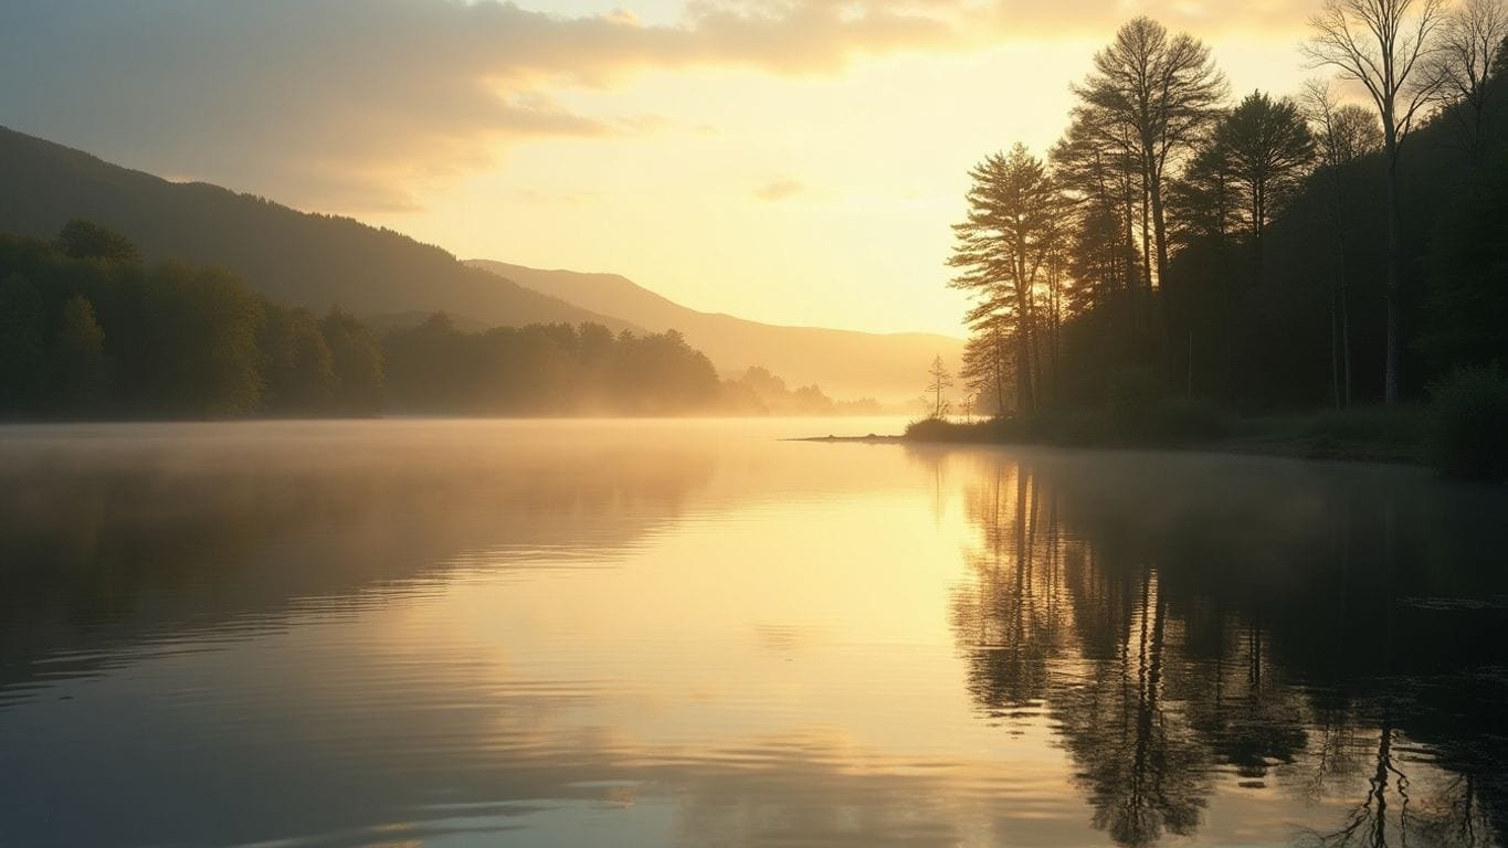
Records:
[[[942,354],[956,371],[964,351],[964,340],[949,336],[780,327],[697,312],[618,274],[541,271],[484,259],[467,265],[647,330],[680,330],[725,377],[757,365],[790,386],[817,384],[835,398],[911,401],[921,393],[932,357]]]

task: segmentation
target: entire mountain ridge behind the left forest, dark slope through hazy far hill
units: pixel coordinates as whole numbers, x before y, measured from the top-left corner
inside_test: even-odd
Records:
[[[840,398],[909,401],[932,357],[942,354],[956,366],[964,345],[927,333],[790,327],[698,312],[611,273],[461,262],[442,247],[351,217],[306,212],[210,182],[173,182],[8,127],[0,127],[0,232],[53,238],[68,220],[87,218],[130,238],[148,261],[222,267],[288,306],[341,306],[398,324],[446,312],[467,325],[674,328],[725,377],[760,366],[792,386],[820,386]]]

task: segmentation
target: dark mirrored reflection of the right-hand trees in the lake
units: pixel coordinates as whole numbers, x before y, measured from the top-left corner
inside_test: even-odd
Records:
[[[1508,651],[1484,639],[1503,615],[1472,601],[1502,595],[1496,496],[1368,468],[1172,456],[1149,480],[1145,458],[965,456],[970,693],[1010,731],[1047,717],[1116,843],[1196,834],[1229,785],[1348,804],[1297,842],[1508,834]]]

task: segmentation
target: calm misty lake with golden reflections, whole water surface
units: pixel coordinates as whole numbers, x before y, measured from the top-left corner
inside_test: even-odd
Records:
[[[0,428],[0,845],[1494,845],[1508,491],[781,437]]]

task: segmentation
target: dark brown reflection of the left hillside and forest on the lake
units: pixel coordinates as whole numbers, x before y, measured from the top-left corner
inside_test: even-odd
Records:
[[[0,465],[0,708],[24,678],[75,673],[122,642],[276,627],[300,604],[353,612],[466,556],[606,560],[673,521],[712,467],[707,452],[657,462],[478,435],[466,422],[15,428]]]

